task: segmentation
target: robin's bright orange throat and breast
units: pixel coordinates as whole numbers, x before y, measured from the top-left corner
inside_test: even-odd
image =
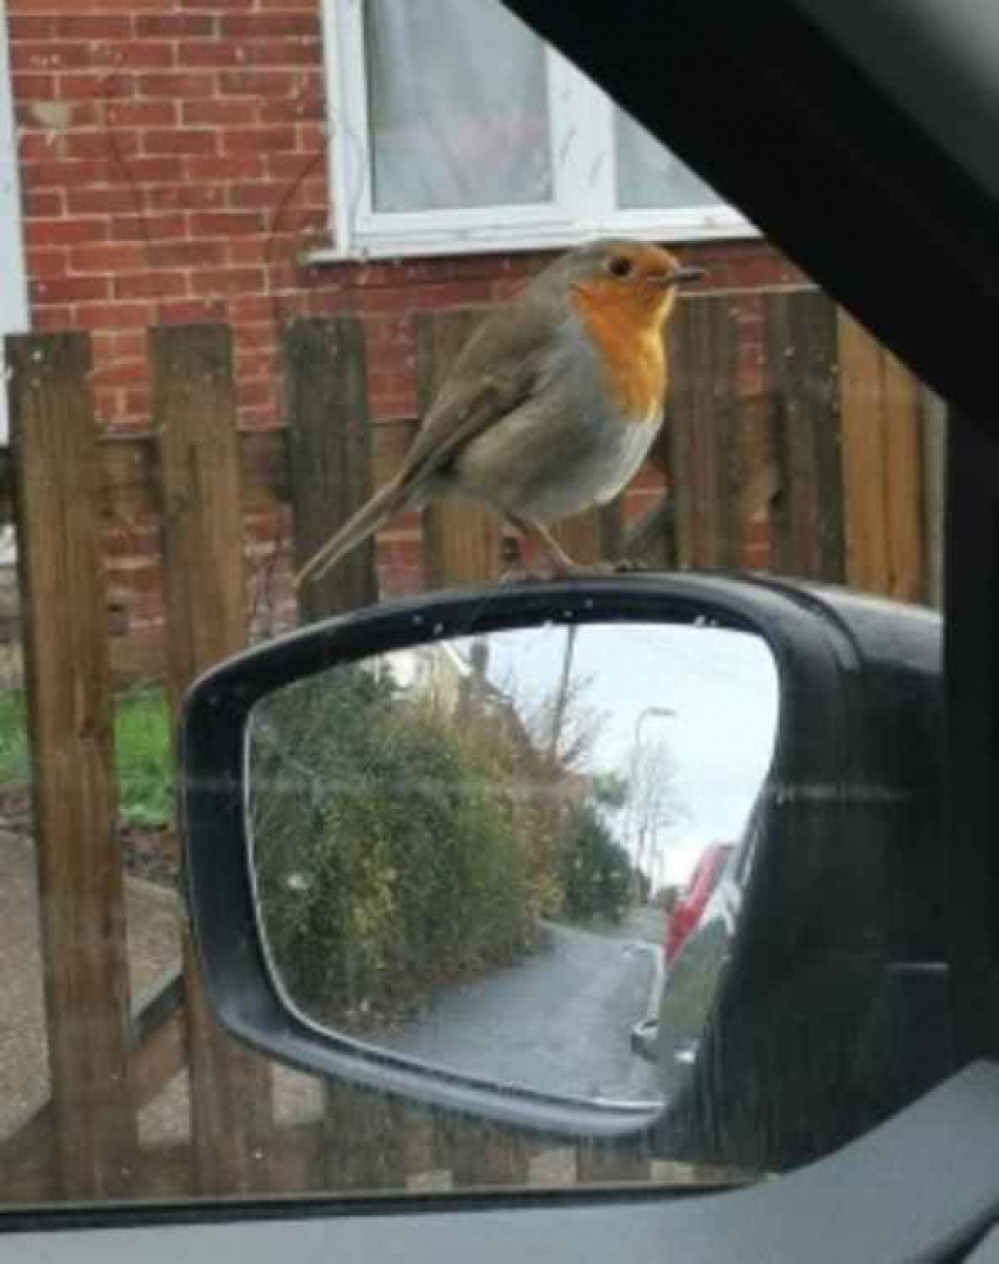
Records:
[[[599,282],[577,286],[569,301],[602,364],[610,407],[626,421],[658,418],[666,393],[661,306]]]

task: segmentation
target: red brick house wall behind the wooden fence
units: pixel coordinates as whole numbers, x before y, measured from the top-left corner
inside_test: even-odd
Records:
[[[37,330],[87,330],[99,416],[148,426],[144,331],[216,320],[235,335],[247,427],[279,423],[276,326],[359,312],[376,418],[415,410],[411,317],[488,302],[540,257],[310,267],[328,244],[320,0],[8,0],[24,234]],[[793,279],[760,243],[687,246],[716,288]],[[745,321],[747,391],[759,320]],[[282,525],[248,523],[252,565]],[[113,589],[137,629],[159,617],[156,533],[109,528]],[[417,581],[408,532],[387,536],[389,586]],[[751,560],[751,559],[747,559]]]

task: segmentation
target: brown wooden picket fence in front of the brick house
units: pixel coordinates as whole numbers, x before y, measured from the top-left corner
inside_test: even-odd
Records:
[[[938,406],[821,295],[771,292],[760,307],[769,380],[746,397],[732,297],[684,300],[655,454],[670,511],[636,532],[613,507],[560,527],[563,541],[583,560],[631,542],[651,559],[728,569],[763,532],[784,574],[937,600]],[[421,406],[479,316],[419,319]],[[240,434],[230,331],[150,331],[152,430],[114,439],[97,434],[83,335],[9,344],[52,1093],[0,1139],[0,1198],[663,1177],[636,1146],[573,1150],[338,1085],[325,1086],[315,1120],[278,1126],[272,1068],[218,1030],[186,939],[178,973],[143,1005],[129,997],[104,527],[123,512],[159,526],[176,705],[197,672],[247,641],[248,508],[290,503],[301,561],[391,473],[415,426],[369,423],[358,321],[300,321],[283,345],[287,426]],[[494,520],[460,506],[426,512],[424,557],[432,586],[505,566]],[[303,595],[301,618],[377,599],[374,561],[373,545],[358,550]],[[185,1068],[190,1140],[143,1148],[139,1111]]]

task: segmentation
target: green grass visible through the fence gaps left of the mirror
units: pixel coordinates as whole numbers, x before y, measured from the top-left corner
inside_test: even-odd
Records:
[[[139,829],[168,824],[173,761],[169,710],[162,690],[143,689],[116,699],[114,744],[121,823]],[[0,694],[0,789],[29,781],[24,694]]]

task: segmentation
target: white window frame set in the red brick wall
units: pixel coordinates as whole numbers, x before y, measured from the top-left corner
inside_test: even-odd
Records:
[[[537,250],[606,234],[659,241],[759,235],[745,216],[726,205],[617,210],[611,101],[550,47],[545,48],[550,147],[558,155],[551,202],[376,211],[362,6],[363,0],[322,0],[334,245],[314,252],[314,259]]]

